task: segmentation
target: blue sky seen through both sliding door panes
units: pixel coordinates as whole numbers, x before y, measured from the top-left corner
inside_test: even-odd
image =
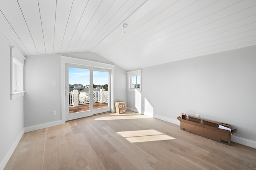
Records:
[[[108,84],[108,72],[93,71],[93,83]],[[90,70],[83,68],[68,68],[68,84],[90,85]]]

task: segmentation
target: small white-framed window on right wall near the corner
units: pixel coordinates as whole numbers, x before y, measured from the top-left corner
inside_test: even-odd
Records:
[[[141,91],[141,70],[127,72],[128,90]]]

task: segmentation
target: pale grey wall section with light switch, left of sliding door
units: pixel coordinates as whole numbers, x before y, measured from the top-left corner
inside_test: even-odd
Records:
[[[25,65],[24,127],[61,120],[59,55],[28,56]]]

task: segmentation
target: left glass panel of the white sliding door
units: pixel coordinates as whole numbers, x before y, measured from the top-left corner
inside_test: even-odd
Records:
[[[66,121],[93,115],[90,89],[92,68],[66,63],[65,72]]]

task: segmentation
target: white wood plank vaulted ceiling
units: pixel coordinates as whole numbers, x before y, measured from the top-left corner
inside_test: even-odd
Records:
[[[256,45],[256,0],[0,0],[0,29],[23,55],[91,51],[134,70]]]

